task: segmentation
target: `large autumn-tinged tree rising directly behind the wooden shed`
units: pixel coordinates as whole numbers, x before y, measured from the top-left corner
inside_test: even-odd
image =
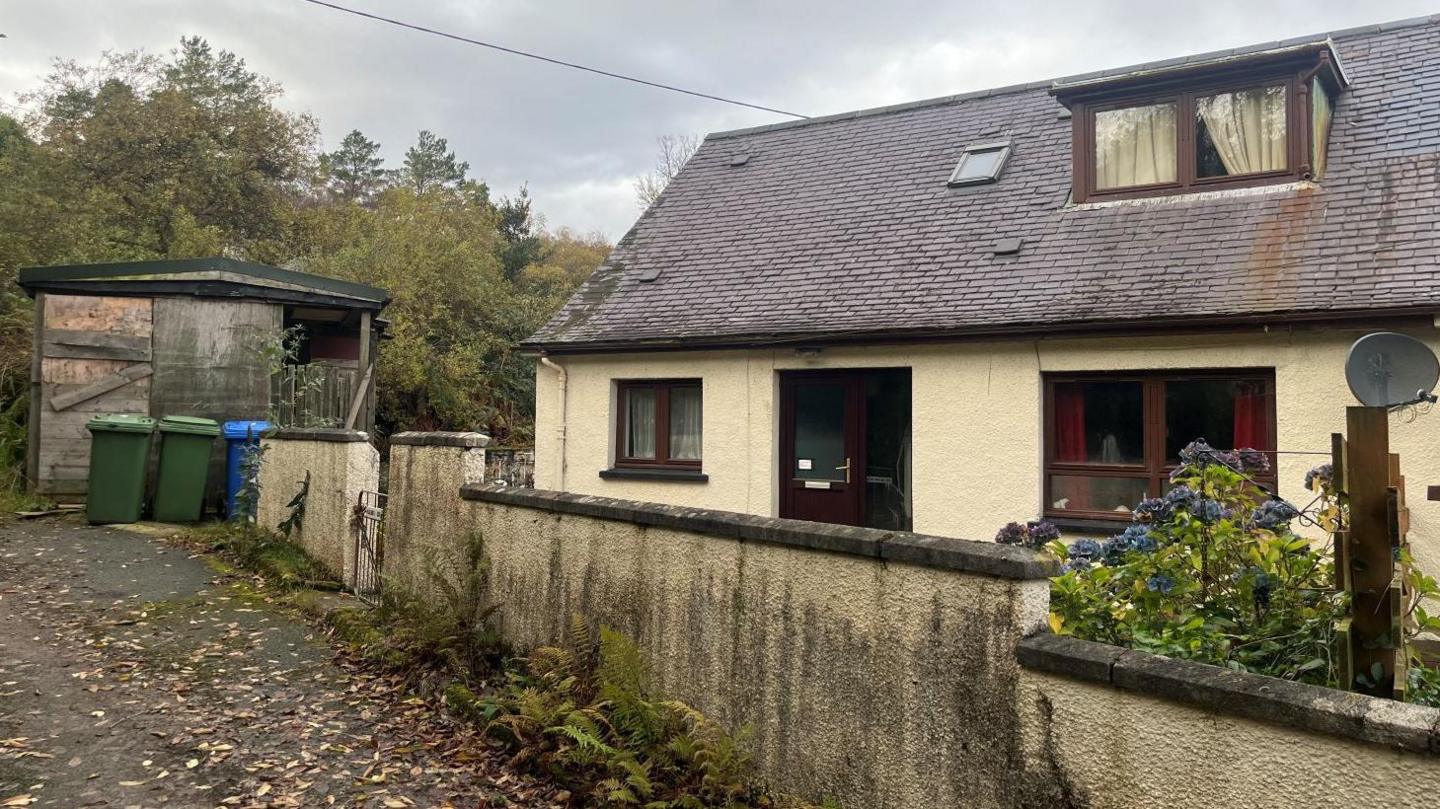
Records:
[[[99,220],[101,258],[265,261],[285,250],[291,197],[315,170],[315,122],[276,108],[279,95],[243,59],[192,37],[170,60],[56,63],[27,96],[29,128],[63,164],[48,193]]]

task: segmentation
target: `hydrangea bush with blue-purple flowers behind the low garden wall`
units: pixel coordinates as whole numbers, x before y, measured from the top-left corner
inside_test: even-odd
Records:
[[[1035,547],[1038,533],[1063,560],[1050,599],[1057,635],[1333,685],[1345,596],[1328,548],[1292,530],[1296,508],[1253,482],[1267,469],[1263,452],[1198,440],[1181,452],[1172,488],[1104,541],[1066,546],[1044,524],[1011,524],[996,538]],[[1322,525],[1339,518],[1328,478],[1306,479]]]

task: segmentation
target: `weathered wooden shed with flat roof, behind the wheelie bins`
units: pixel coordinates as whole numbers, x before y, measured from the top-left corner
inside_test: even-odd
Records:
[[[226,258],[36,266],[19,284],[36,304],[37,494],[84,498],[98,413],[374,426],[384,289]],[[216,442],[212,495],[222,485]]]

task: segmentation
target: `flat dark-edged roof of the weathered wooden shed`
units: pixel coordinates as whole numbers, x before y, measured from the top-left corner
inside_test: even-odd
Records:
[[[229,258],[26,266],[19,284],[32,297],[36,292],[196,295],[374,311],[390,302],[390,294],[379,286]]]

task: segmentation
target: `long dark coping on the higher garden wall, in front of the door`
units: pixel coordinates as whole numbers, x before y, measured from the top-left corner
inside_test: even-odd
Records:
[[[461,487],[459,494],[469,501],[537,508],[598,520],[616,520],[657,528],[674,528],[737,541],[864,556],[881,561],[981,573],[999,579],[1048,579],[1060,573],[1060,561],[1048,554],[996,543],[858,528],[854,525],[832,525],[805,520],[779,520],[733,511],[711,511],[707,508],[687,508],[681,505],[513,488],[494,484],[465,484]]]

